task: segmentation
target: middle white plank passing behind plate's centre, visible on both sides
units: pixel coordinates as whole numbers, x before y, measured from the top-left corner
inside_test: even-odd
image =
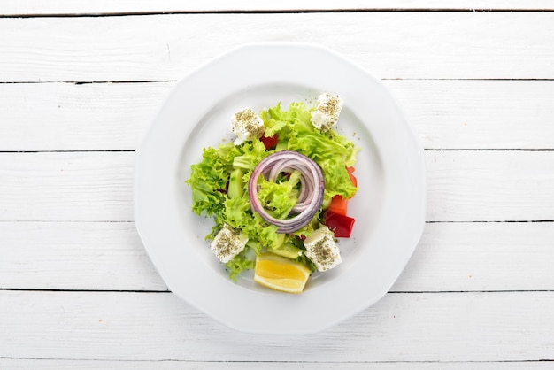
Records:
[[[427,220],[554,220],[554,151],[432,150]],[[0,220],[133,220],[134,152],[0,153]]]

